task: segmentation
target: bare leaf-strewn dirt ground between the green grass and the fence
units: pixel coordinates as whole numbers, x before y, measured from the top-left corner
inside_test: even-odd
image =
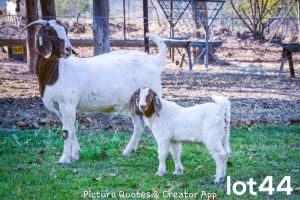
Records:
[[[225,55],[228,50],[225,52]],[[222,55],[216,53],[220,58]],[[223,55],[223,57],[225,57]],[[60,127],[59,119],[43,105],[37,78],[24,62],[0,57],[0,129]],[[286,64],[287,66],[287,64]],[[300,79],[292,79],[287,67],[277,81],[278,62],[236,62],[230,65],[180,69],[168,61],[162,73],[164,98],[182,106],[211,101],[212,94],[232,102],[232,125],[299,124]],[[300,70],[296,65],[296,76]],[[131,130],[128,117],[80,113],[81,130]]]

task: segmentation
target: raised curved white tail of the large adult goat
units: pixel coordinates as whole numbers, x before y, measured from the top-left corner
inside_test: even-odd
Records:
[[[167,58],[167,52],[168,52],[168,48],[165,45],[164,41],[151,33],[146,33],[146,37],[149,37],[150,40],[152,40],[159,49],[159,53],[158,55],[155,56],[155,59],[157,60],[157,64],[161,67],[163,67],[166,63],[166,58]]]

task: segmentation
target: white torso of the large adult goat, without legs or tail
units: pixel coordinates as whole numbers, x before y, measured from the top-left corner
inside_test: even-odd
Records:
[[[138,51],[121,51],[92,58],[59,59],[59,77],[47,85],[43,101],[70,103],[77,111],[128,113],[128,99],[141,85],[152,86],[161,95],[161,71],[155,57]]]

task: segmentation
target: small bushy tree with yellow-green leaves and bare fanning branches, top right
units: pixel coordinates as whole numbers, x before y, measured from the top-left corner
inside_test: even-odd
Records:
[[[230,0],[230,5],[239,19],[255,38],[264,35],[264,31],[281,12],[281,0],[248,0],[241,3]]]

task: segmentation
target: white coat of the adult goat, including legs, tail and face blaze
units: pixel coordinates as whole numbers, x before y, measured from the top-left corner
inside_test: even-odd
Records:
[[[70,42],[62,26],[59,28],[54,20],[50,20],[49,24],[58,31],[61,39],[64,38],[65,44]],[[59,59],[58,80],[53,85],[46,85],[43,102],[61,118],[63,135],[67,136],[60,163],[70,163],[79,158],[81,150],[74,125],[76,111],[121,112],[129,115],[134,132],[124,155],[129,155],[137,148],[145,125],[140,116],[130,113],[128,101],[135,90],[144,86],[154,88],[161,96],[160,75],[167,53],[160,38],[152,34],[148,34],[148,37],[158,45],[158,55],[120,51],[91,58]]]

